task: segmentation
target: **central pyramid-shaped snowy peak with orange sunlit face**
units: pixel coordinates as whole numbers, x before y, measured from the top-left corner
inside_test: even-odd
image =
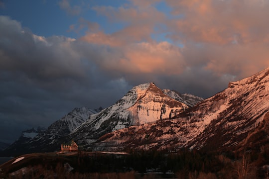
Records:
[[[70,138],[91,144],[106,133],[171,119],[187,108],[186,104],[165,95],[153,83],[138,85],[112,106],[91,115]]]

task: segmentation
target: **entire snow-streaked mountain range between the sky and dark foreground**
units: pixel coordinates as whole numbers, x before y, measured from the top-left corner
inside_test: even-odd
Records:
[[[269,142],[268,111],[269,69],[207,99],[147,83],[108,108],[75,108],[35,136],[23,134],[4,152],[54,151],[70,140],[106,151],[255,148]]]

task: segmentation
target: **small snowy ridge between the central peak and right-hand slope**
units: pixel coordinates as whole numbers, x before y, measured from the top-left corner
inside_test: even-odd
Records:
[[[162,92],[170,97],[172,97],[175,100],[178,100],[179,102],[182,102],[184,104],[187,104],[190,107],[195,106],[198,102],[204,100],[204,98],[189,94],[189,93],[179,93],[175,90],[170,89],[163,89]]]

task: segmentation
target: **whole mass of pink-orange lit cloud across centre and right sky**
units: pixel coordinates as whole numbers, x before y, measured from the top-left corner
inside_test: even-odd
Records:
[[[101,68],[113,69],[130,79],[128,74],[138,73],[180,78],[188,69],[196,69],[200,73],[198,77],[210,74],[216,77],[215,81],[225,79],[221,81],[222,87],[226,87],[228,81],[248,77],[269,66],[266,58],[269,25],[264,18],[269,15],[268,1],[165,1],[171,14],[160,12],[155,7],[159,2],[130,0],[120,7],[93,7],[111,23],[124,24],[111,34],[89,30],[81,37],[82,41],[111,48],[111,53],[105,54],[114,60],[105,60],[107,66],[99,64]],[[161,36],[163,33],[170,43],[165,39],[155,42],[151,38],[152,34]],[[181,47],[177,47],[178,43]],[[164,44],[177,50],[164,55]],[[151,53],[151,47],[156,51]],[[173,65],[167,65],[169,63]],[[197,79],[190,80],[197,83]]]

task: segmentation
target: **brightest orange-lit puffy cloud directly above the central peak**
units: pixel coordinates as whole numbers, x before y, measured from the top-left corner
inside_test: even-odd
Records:
[[[161,43],[131,44],[123,49],[117,63],[111,61],[107,68],[124,72],[125,74],[180,74],[184,68],[184,60],[179,48]]]

